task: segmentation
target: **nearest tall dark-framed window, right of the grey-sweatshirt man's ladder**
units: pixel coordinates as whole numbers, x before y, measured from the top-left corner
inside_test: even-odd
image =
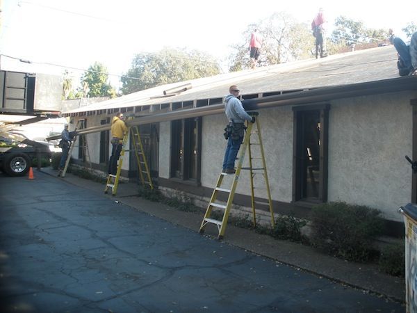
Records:
[[[327,201],[329,106],[294,108],[293,202]]]

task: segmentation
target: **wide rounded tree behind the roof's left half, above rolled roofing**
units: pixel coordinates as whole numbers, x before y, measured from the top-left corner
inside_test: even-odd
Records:
[[[197,50],[165,48],[156,53],[136,54],[131,68],[122,77],[122,93],[127,95],[166,83],[219,73],[218,62],[208,54]]]

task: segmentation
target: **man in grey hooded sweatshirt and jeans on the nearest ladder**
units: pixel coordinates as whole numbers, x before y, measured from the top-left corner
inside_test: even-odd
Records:
[[[226,151],[224,152],[222,171],[227,172],[227,174],[234,174],[236,172],[234,163],[245,136],[245,120],[254,123],[255,117],[250,116],[243,109],[242,102],[238,99],[240,93],[238,86],[230,86],[229,93],[224,99],[224,113],[226,113],[229,124],[224,129],[224,138],[228,139],[228,141]]]

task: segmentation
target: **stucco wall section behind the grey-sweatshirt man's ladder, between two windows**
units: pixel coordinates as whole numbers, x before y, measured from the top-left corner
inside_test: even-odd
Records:
[[[293,179],[293,112],[289,107],[263,109],[259,111],[259,121],[271,197],[273,200],[290,202]],[[202,186],[213,188],[222,170],[224,150],[227,145],[227,141],[223,137],[226,124],[227,119],[224,114],[209,115],[203,119]],[[252,138],[254,141],[256,136]],[[252,147],[252,151],[252,157],[261,156],[256,146]],[[243,167],[248,166],[249,158],[246,153]],[[252,166],[261,167],[261,163],[253,163]],[[261,171],[256,172],[254,186],[259,188],[255,189],[255,195],[266,198],[265,180],[263,175],[261,175]],[[231,179],[231,176],[227,178]],[[224,183],[229,184],[229,182]],[[242,170],[236,192],[250,195],[250,191],[249,171]]]

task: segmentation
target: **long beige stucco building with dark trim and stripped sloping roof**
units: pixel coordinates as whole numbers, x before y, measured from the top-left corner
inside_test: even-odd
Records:
[[[417,159],[417,78],[399,77],[396,61],[392,46],[377,47],[159,86],[63,115],[88,128],[107,125],[117,111],[134,116],[158,188],[205,207],[226,145],[222,99],[236,84],[245,109],[259,112],[277,214],[308,217],[320,202],[363,204],[383,212],[387,233],[403,234],[398,207],[417,200],[417,175],[404,158]],[[93,168],[106,172],[108,130],[85,140]],[[83,153],[74,150],[76,163]],[[135,157],[125,160],[122,175],[136,179]],[[247,175],[234,199],[240,207],[250,207]]]

